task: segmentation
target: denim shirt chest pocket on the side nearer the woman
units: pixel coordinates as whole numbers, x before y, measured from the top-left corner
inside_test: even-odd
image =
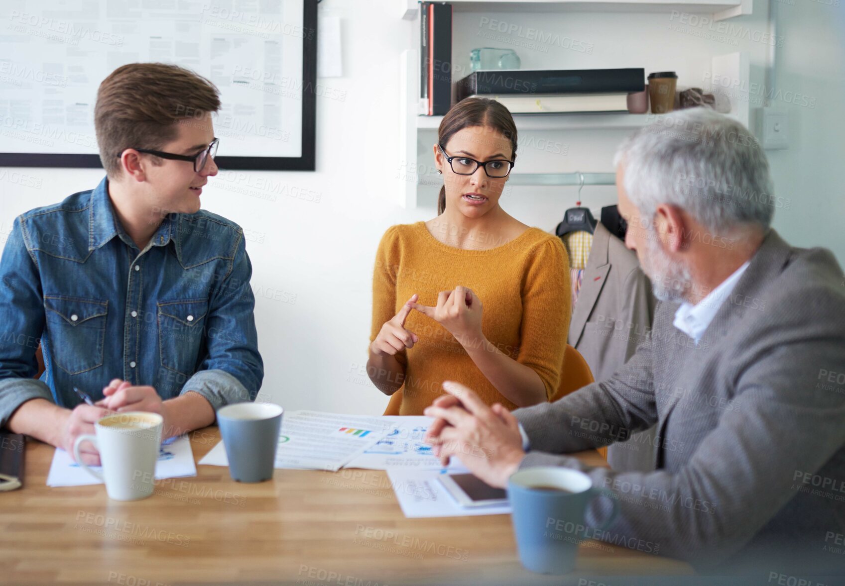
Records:
[[[161,366],[190,377],[199,362],[209,301],[183,299],[157,305]]]

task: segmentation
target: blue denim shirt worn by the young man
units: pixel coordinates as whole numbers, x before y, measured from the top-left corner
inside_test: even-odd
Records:
[[[204,210],[168,214],[143,251],[107,178],[20,215],[0,259],[0,427],[41,397],[72,409],[112,378],[161,399],[195,391],[215,411],[264,378],[243,230]],[[35,350],[46,371],[40,380]]]

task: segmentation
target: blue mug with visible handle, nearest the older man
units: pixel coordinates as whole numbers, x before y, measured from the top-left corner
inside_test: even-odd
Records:
[[[600,527],[587,526],[586,508],[598,496],[607,496],[613,511]],[[510,475],[508,501],[520,562],[543,574],[572,572],[581,541],[591,530],[607,529],[619,513],[612,491],[593,487],[583,472],[557,466],[526,468]]]

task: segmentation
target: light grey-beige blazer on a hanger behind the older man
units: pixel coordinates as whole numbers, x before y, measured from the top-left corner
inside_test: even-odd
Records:
[[[597,381],[619,370],[648,338],[655,302],[636,253],[598,223],[569,337]],[[608,448],[608,464],[625,471],[654,469],[654,437],[652,427],[614,443]]]

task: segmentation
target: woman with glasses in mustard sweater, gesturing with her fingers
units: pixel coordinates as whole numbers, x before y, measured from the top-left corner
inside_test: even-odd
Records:
[[[443,117],[438,216],[384,233],[373,274],[367,372],[401,415],[422,415],[445,380],[508,410],[555,393],[570,323],[569,263],[556,236],[499,206],[516,126],[495,100]]]

